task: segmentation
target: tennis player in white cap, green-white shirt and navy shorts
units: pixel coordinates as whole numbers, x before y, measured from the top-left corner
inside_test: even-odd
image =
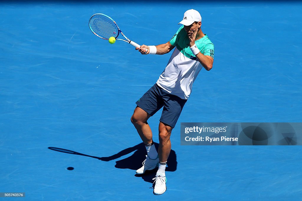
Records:
[[[155,195],[166,191],[165,168],[171,151],[170,136],[179,115],[187,102],[194,80],[201,68],[212,69],[214,61],[214,44],[201,30],[201,15],[196,10],[185,12],[183,24],[172,39],[161,45],[136,48],[141,54],[163,55],[175,48],[171,58],[152,86],[137,102],[137,107],[131,117],[131,122],[137,129],[146,146],[147,155],[143,167],[136,171],[143,174],[158,166],[153,188]],[[159,148],[153,144],[152,131],[147,120],[159,109],[162,110],[159,119]]]

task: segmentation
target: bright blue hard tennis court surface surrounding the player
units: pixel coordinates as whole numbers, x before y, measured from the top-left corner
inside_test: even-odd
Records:
[[[131,40],[158,45],[191,8],[215,45],[214,65],[194,82],[172,131],[167,191],[155,196],[156,171],[135,174],[146,150],[130,117],[172,52],[111,45],[88,20],[107,14]],[[180,145],[181,122],[302,122],[301,11],[298,1],[1,2],[0,192],[24,192],[18,200],[301,200],[300,146]],[[160,115],[149,119],[156,145]]]

